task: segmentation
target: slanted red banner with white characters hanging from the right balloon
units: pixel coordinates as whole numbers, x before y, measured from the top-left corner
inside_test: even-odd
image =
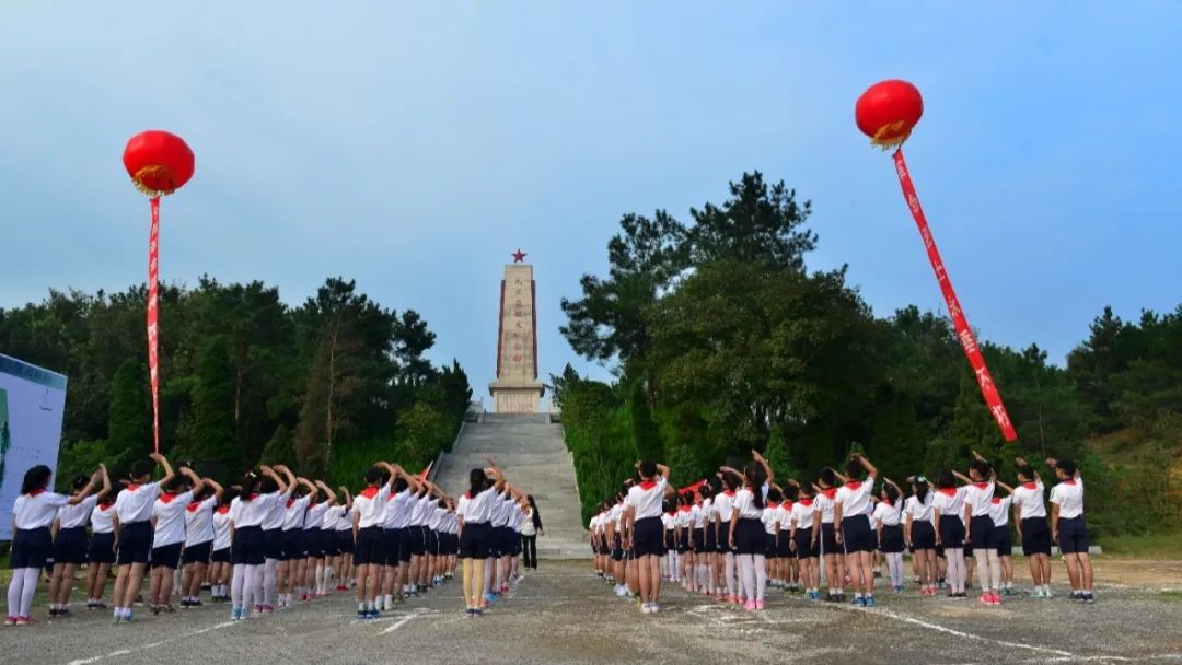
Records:
[[[943,259],[940,257],[940,250],[936,248],[936,240],[931,236],[931,229],[928,228],[928,219],[923,215],[923,208],[920,207],[920,196],[915,193],[915,184],[911,182],[911,175],[907,170],[907,162],[903,161],[902,148],[895,151],[895,170],[898,174],[898,183],[903,188],[903,197],[907,200],[907,207],[911,210],[911,216],[915,217],[915,226],[920,228],[920,237],[923,239],[923,247],[928,250],[928,260],[931,261],[931,269],[936,273],[940,292],[944,295],[944,302],[948,304],[948,314],[953,319],[953,330],[956,331],[956,338],[965,350],[965,356],[968,358],[969,365],[973,366],[976,384],[981,387],[981,395],[985,397],[985,403],[989,406],[989,413],[998,423],[998,429],[1001,430],[1001,436],[1007,442],[1012,442],[1018,438],[1018,432],[1014,431],[1009,415],[1006,413],[1006,405],[1001,403],[1001,395],[998,392],[998,386],[993,383],[989,369],[985,365],[985,357],[981,356],[976,338],[973,337],[973,330],[969,328],[968,319],[965,318],[965,311],[961,309],[960,300],[956,299],[952,279],[948,276]]]

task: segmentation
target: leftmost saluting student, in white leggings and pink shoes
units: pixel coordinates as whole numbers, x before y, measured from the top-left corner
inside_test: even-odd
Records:
[[[77,494],[66,496],[47,491],[52,471],[38,464],[25,471],[20,495],[12,507],[12,558],[8,567],[8,614],[6,626],[26,626],[33,622],[33,594],[37,593],[37,576],[53,552],[50,527],[58,509],[77,506],[85,501],[98,483],[96,471],[90,482]]]

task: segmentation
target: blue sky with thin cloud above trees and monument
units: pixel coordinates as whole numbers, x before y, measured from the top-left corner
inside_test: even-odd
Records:
[[[743,170],[813,201],[810,265],[849,263],[877,313],[940,308],[852,118],[907,78],[926,100],[908,162],[983,338],[1061,361],[1104,305],[1176,307],[1182,5],[905,5],[8,2],[0,306],[144,280],[148,204],[119,155],[161,128],[197,156],[163,204],[164,279],[298,304],[355,278],[418,309],[478,396],[511,252],[557,372],[559,299],[603,273],[621,214],[688,220]]]

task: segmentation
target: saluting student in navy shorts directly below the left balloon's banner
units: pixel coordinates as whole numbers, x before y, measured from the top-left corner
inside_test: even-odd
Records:
[[[115,519],[119,524],[118,572],[115,576],[113,622],[131,621],[131,606],[143,583],[148,555],[151,553],[151,510],[160,496],[161,483],[170,483],[175,477],[173,465],[158,452],[149,455],[131,465],[131,482],[115,498]],[[150,482],[152,470],[160,464],[164,477]]]

